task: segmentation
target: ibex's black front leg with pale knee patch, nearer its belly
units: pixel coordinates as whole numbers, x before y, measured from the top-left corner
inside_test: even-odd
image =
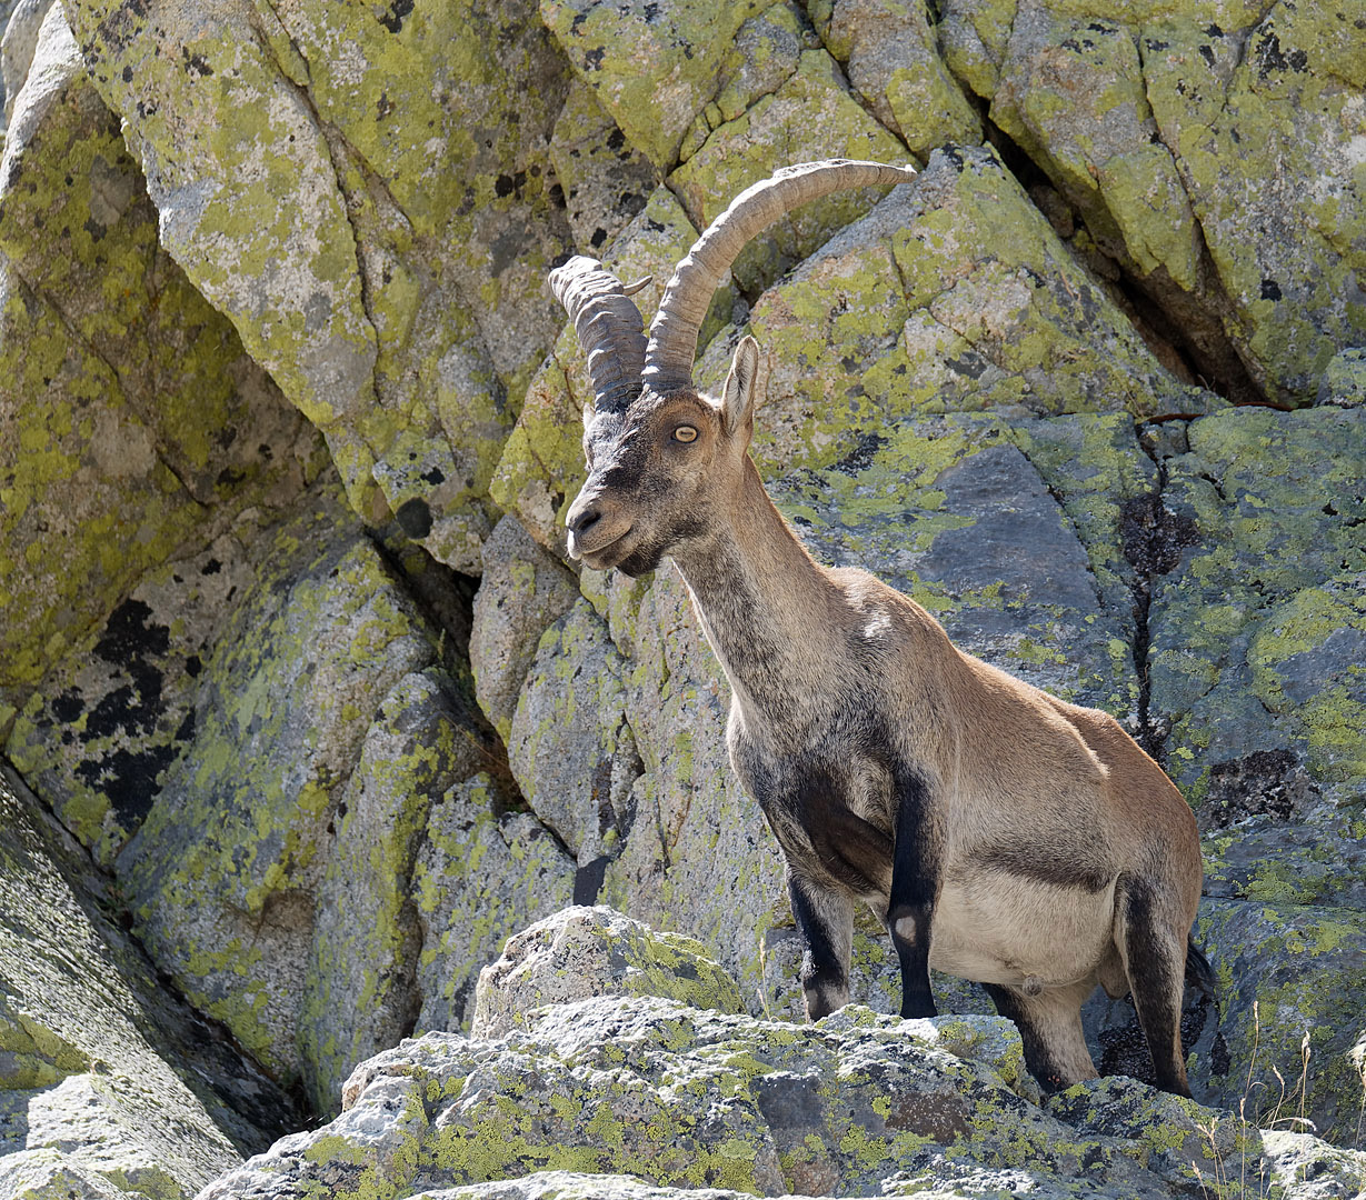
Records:
[[[902,1016],[933,1017],[930,994],[930,920],[938,893],[938,845],[929,820],[929,793],[918,775],[899,774],[892,893],[887,931],[902,962]]]

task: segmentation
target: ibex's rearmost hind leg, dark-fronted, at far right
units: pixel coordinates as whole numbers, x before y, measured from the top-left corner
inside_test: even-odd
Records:
[[[1182,1001],[1190,917],[1179,908],[1175,893],[1164,894],[1152,881],[1121,878],[1115,893],[1115,945],[1147,1039],[1154,1081],[1165,1092],[1188,1096]]]

